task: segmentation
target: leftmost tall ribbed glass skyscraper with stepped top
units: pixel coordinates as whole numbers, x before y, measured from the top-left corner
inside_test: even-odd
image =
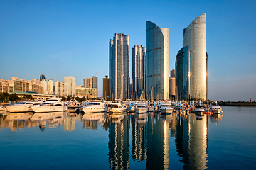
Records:
[[[110,98],[129,98],[129,35],[110,40]]]

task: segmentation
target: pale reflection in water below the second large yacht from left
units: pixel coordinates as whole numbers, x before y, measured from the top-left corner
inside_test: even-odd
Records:
[[[58,126],[63,125],[64,113],[63,111],[34,113],[30,121],[39,123],[39,130],[45,130],[47,125],[48,128],[57,128]]]

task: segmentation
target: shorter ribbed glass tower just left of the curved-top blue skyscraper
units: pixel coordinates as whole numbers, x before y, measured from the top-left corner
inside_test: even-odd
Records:
[[[146,93],[146,47],[135,45],[132,48],[132,98]]]

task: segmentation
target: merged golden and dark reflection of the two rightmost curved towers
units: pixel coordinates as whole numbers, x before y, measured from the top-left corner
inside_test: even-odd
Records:
[[[177,115],[176,150],[183,169],[206,169],[208,115]]]

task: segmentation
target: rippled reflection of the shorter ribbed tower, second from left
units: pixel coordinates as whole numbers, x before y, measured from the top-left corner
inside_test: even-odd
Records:
[[[146,123],[148,113],[133,114],[132,120],[132,158],[135,162],[146,159],[147,137]]]

